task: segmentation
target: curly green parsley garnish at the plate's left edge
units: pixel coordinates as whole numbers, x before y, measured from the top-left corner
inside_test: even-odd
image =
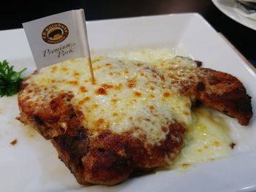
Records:
[[[0,96],[12,96],[20,91],[20,83],[23,78],[21,74],[26,70],[23,69],[20,72],[13,71],[13,66],[9,66],[9,63],[4,60],[0,61]]]

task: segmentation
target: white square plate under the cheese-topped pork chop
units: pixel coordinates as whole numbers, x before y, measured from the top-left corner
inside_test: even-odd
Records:
[[[96,52],[132,47],[173,47],[203,61],[205,67],[235,75],[256,106],[256,74],[219,34],[195,13],[87,23]],[[0,60],[15,69],[34,71],[34,60],[23,29],[0,31]],[[0,99],[0,191],[247,191],[256,186],[256,118],[242,127],[227,118],[238,146],[230,158],[192,166],[185,172],[157,172],[113,187],[82,187],[59,161],[56,150],[18,116],[17,96]],[[18,144],[10,145],[13,139]]]

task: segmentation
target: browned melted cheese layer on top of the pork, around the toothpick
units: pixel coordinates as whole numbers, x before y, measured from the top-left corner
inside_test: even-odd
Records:
[[[72,93],[71,103],[83,112],[83,126],[93,137],[107,129],[118,134],[132,131],[134,137],[155,145],[165,139],[165,127],[173,120],[191,123],[189,99],[167,88],[170,82],[148,64],[94,58],[93,69],[95,83],[85,58],[48,66],[26,80],[25,94],[28,101],[45,102],[59,93]]]

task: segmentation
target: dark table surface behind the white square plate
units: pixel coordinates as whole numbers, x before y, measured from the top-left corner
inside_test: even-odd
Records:
[[[256,45],[256,31],[228,18],[211,0],[8,0],[1,3],[0,30],[21,28],[23,22],[80,8],[86,10],[86,20],[198,12],[247,59],[256,61],[255,49],[252,48]]]

